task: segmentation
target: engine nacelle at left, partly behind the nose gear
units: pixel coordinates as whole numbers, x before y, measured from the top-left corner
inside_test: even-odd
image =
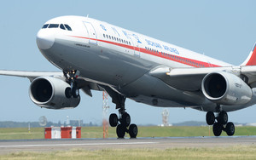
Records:
[[[49,108],[74,108],[79,106],[80,96],[76,99],[67,98],[66,89],[70,85],[55,77],[38,77],[32,81],[29,95],[36,105]]]

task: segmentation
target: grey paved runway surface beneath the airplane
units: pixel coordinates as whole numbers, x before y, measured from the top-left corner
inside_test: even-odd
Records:
[[[173,147],[256,146],[256,136],[233,137],[162,137],[137,139],[77,140],[0,140],[0,154],[16,151],[60,151],[74,148],[102,149],[166,149]]]

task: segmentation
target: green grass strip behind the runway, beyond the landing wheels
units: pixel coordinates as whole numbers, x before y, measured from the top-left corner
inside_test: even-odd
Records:
[[[102,127],[83,127],[82,138],[102,138]],[[212,127],[141,127],[138,126],[137,137],[184,137],[213,136]],[[226,135],[224,132],[221,135]],[[235,135],[256,135],[256,127],[236,127]],[[128,134],[125,135],[129,137]],[[108,137],[115,138],[115,128],[108,128]],[[26,128],[0,129],[0,140],[44,139],[44,128],[32,128],[30,133]]]

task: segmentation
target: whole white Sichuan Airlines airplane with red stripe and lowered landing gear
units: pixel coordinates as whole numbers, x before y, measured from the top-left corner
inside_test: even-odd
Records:
[[[256,104],[256,49],[240,66],[113,26],[101,20],[67,15],[44,23],[38,49],[61,71],[5,71],[0,75],[31,81],[33,103],[48,109],[79,106],[80,92],[106,91],[117,114],[109,124],[118,138],[138,129],[125,111],[126,98],[156,107],[189,107],[206,111],[215,136],[232,136],[229,111]],[[147,111],[143,112],[147,116]]]

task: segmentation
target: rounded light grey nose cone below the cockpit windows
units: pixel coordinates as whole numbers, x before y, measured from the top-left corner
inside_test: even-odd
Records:
[[[39,49],[50,49],[55,43],[54,33],[51,31],[38,31],[37,44]]]

